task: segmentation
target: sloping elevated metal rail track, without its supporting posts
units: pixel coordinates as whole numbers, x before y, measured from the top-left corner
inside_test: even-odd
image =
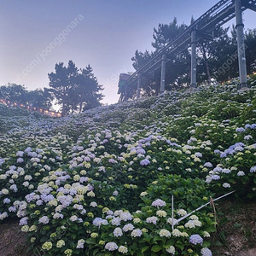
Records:
[[[252,9],[256,11],[256,0],[244,0],[241,2],[241,10]],[[196,41],[200,41],[201,38],[212,38],[212,32],[218,27],[224,25],[227,21],[236,16],[234,0],[222,0],[216,3],[211,9],[197,20],[195,20],[190,26],[188,26],[183,32],[173,38],[172,41],[166,44],[163,49],[160,49],[150,60],[146,61],[142,67],[140,67],[135,73],[131,74],[131,77],[127,79],[125,87],[131,86],[137,82],[138,74],[142,73],[143,78],[154,73],[161,67],[161,58],[163,54],[167,55],[167,60],[171,61],[174,57],[180,55],[184,49],[188,48],[191,43],[191,32],[196,30],[198,37]],[[201,35],[201,36],[200,36]],[[121,95],[120,99],[127,100],[126,95]]]

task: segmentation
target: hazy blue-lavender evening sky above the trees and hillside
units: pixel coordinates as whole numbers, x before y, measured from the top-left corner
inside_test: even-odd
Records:
[[[160,23],[189,25],[214,0],[0,0],[0,86],[24,84],[27,90],[49,87],[55,64],[90,64],[103,85],[102,103],[118,102],[119,73],[134,72],[135,51],[152,48]],[[256,13],[243,14],[246,28]],[[231,20],[230,24],[235,23]]]

